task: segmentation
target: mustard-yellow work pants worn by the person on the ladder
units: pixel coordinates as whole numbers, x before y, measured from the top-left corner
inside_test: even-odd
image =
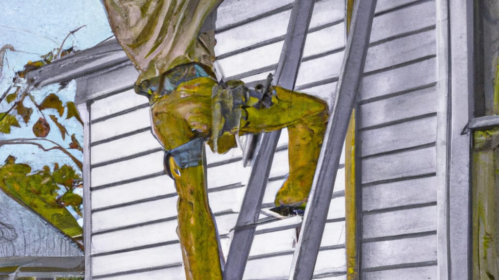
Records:
[[[212,131],[212,89],[217,82],[202,77],[181,84],[169,95],[151,101],[152,127],[170,150]],[[287,128],[289,176],[278,191],[276,205],[305,203],[326,129],[327,105],[315,97],[275,88],[273,105],[256,109],[250,98],[240,123],[240,135]],[[171,173],[179,194],[178,235],[187,279],[222,279],[216,226],[208,205],[205,166],[181,168],[172,157]]]

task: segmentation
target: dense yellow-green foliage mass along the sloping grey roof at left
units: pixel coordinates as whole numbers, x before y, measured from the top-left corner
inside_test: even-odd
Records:
[[[58,188],[48,166],[31,173],[29,165],[15,163],[13,156],[9,156],[5,164],[0,166],[1,191],[37,212],[68,236],[79,236],[83,229],[71,213],[57,203]],[[68,201],[73,204],[77,202],[76,198],[71,196]]]

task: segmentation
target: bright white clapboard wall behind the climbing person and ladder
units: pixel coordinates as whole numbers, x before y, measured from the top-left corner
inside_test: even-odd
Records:
[[[251,83],[276,68],[291,0],[226,0],[218,10],[217,71],[228,79]],[[318,0],[314,8],[296,89],[331,101],[345,45],[344,1]],[[111,41],[104,44],[112,44]],[[115,52],[113,55],[117,55]],[[95,56],[112,60],[106,54]],[[133,92],[138,73],[129,61],[77,80],[77,100],[87,104],[93,279],[184,279],[176,235],[173,181],[163,173],[163,149],[150,132],[147,100]],[[207,149],[210,205],[227,256],[250,168],[242,152],[213,154]],[[287,133],[282,133],[263,198],[272,207],[287,166]],[[335,192],[314,278],[345,279],[344,169]],[[287,279],[301,218],[256,229],[245,279]],[[88,228],[87,228],[88,229]],[[216,261],[216,260],[214,260]]]

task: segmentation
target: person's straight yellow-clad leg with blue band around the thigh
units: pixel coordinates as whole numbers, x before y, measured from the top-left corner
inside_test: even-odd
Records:
[[[211,130],[214,85],[211,78],[194,79],[151,105],[154,134],[171,153],[169,168],[179,194],[177,234],[187,280],[222,280],[202,154]]]

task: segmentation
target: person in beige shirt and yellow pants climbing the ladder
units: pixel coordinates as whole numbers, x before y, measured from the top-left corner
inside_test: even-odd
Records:
[[[178,235],[189,280],[222,279],[216,226],[208,205],[203,147],[224,153],[235,137],[282,128],[289,134],[289,176],[275,203],[303,210],[328,119],[312,96],[271,87],[262,102],[241,81],[217,82],[214,31],[200,33],[222,0],[103,0],[111,28],[140,76],[135,90],[150,100],[154,136],[175,180]],[[266,95],[264,90],[262,95]]]

